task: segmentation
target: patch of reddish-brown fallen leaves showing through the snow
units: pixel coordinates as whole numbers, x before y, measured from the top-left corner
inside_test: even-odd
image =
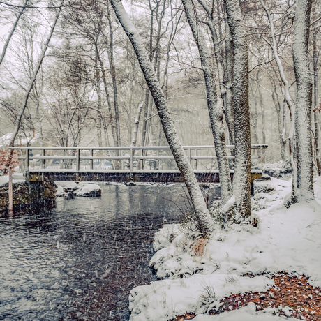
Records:
[[[263,308],[288,307],[292,309],[289,318],[301,318],[304,320],[321,321],[321,289],[313,287],[308,283],[306,276],[294,276],[280,272],[271,276],[275,286],[266,292],[247,292],[243,294],[232,294],[221,300],[223,305],[218,311],[209,314],[218,314],[225,311],[236,310],[247,306],[248,302],[254,302],[257,310]],[[280,315],[285,315],[283,311]],[[181,315],[172,321],[192,320],[194,313]]]

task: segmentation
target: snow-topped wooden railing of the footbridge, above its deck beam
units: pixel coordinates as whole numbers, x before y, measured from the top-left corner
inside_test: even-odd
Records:
[[[234,145],[227,145],[227,149],[234,149]],[[253,144],[251,149],[266,149],[266,144]],[[80,171],[93,171],[93,170],[105,170],[110,172],[117,172],[119,170],[126,170],[128,172],[134,172],[135,170],[144,169],[145,160],[173,160],[174,157],[170,153],[170,147],[154,146],[154,147],[12,147],[20,151],[18,159],[24,161],[24,169],[27,171],[36,170],[37,172],[43,171],[59,171],[73,172]],[[39,151],[40,154],[31,155],[30,151],[34,154],[35,151]],[[150,155],[154,151],[153,155]],[[159,156],[160,151],[168,151],[170,155]],[[215,148],[212,145],[206,146],[184,146],[186,156],[197,170],[197,164],[201,160],[211,162],[216,160]],[[200,155],[202,151],[207,151],[207,155]],[[95,154],[96,152],[96,154]],[[138,152],[138,153],[137,153]],[[52,155],[53,153],[62,155]],[[107,154],[104,154],[107,153]],[[156,154],[155,154],[156,153]],[[22,154],[22,155],[21,155]],[[83,155],[84,154],[84,155]],[[88,155],[89,154],[89,155]],[[112,155],[114,154],[114,155]],[[121,154],[121,156],[119,156]],[[122,156],[122,154],[125,154]],[[235,156],[227,156],[229,159],[234,159]],[[251,158],[260,158],[259,155],[252,155]],[[37,160],[37,161],[35,161]],[[46,161],[51,163],[46,167]],[[96,160],[96,162],[95,162]],[[110,160],[114,160],[114,166],[107,165]],[[118,161],[120,162],[118,163]],[[58,161],[58,163],[57,163]],[[96,163],[100,165],[95,165]],[[103,166],[101,165],[103,162]],[[36,167],[35,163],[39,163]],[[85,165],[82,165],[85,163]],[[87,165],[86,165],[87,163]],[[89,163],[89,165],[88,165]],[[116,165],[115,165],[116,164]],[[31,166],[33,165],[33,166]],[[176,166],[176,164],[175,164]],[[61,168],[62,167],[62,168]],[[112,168],[114,167],[114,168]],[[123,168],[126,167],[126,168]],[[159,169],[159,166],[158,166]],[[157,168],[156,168],[157,170]]]

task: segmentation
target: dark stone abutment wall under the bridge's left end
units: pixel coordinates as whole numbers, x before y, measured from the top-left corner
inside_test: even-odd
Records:
[[[8,183],[0,186],[0,211],[8,209]],[[24,205],[39,204],[46,200],[54,200],[57,186],[50,181],[30,181],[13,184],[13,208]]]

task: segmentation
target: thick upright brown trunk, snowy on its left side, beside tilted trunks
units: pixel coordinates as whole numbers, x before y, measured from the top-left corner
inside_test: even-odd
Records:
[[[235,165],[233,195],[240,219],[251,215],[251,133],[248,106],[248,46],[239,0],[224,0],[233,42]],[[237,218],[236,218],[237,219]]]

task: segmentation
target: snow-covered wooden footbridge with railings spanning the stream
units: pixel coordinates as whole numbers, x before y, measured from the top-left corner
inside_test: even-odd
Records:
[[[234,145],[227,145],[233,167]],[[251,151],[266,149],[251,145]],[[170,147],[13,147],[27,181],[184,182]],[[219,183],[214,146],[184,146],[197,181]],[[258,153],[257,153],[258,154]],[[251,158],[260,158],[252,152]],[[230,170],[233,179],[234,170]],[[251,182],[262,177],[252,170]]]

